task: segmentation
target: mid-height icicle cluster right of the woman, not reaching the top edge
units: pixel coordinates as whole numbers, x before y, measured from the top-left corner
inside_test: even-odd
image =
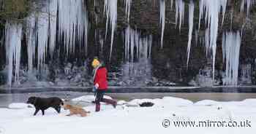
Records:
[[[140,32],[133,30],[129,26],[125,29],[125,58],[128,61],[133,62],[136,58],[150,58],[151,57],[151,46],[152,36],[141,36]]]

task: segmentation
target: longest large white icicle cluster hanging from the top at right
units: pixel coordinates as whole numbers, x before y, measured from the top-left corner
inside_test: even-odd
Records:
[[[208,25],[209,32],[208,33],[208,42],[206,52],[209,50],[212,51],[212,66],[213,66],[213,79],[215,74],[215,55],[217,49],[217,36],[218,36],[218,27],[219,27],[219,12],[222,9],[222,17],[224,19],[225,10],[226,10],[227,0],[200,0],[200,15],[199,15],[199,28],[200,28],[200,20],[203,17],[203,13],[205,13],[205,21]]]

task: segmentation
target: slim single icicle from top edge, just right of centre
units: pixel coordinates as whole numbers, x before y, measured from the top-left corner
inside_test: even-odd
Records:
[[[161,32],[161,48],[163,46],[163,38],[165,31],[165,0],[160,0],[160,23],[162,24],[162,32]]]

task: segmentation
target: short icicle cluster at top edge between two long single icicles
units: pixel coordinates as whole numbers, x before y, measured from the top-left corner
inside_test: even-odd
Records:
[[[185,4],[183,0],[176,0],[176,25],[179,17],[179,30],[181,31],[181,24],[184,23]]]

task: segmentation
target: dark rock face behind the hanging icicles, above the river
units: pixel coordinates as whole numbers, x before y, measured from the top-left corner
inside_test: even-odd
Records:
[[[117,25],[114,33],[113,51],[110,59],[111,31],[106,31],[106,14],[104,12],[105,1],[89,0],[84,3],[89,17],[88,53],[76,47],[70,55],[65,55],[64,45],[56,42],[54,55],[47,53],[45,66],[48,73],[36,71],[33,81],[52,82],[56,85],[87,86],[91,84],[91,59],[99,56],[105,61],[109,71],[109,80],[112,85],[131,86],[172,86],[172,85],[197,85],[212,86],[223,84],[225,73],[225,62],[222,52],[222,34],[226,31],[241,31],[241,48],[239,56],[238,84],[256,84],[256,5],[251,5],[249,13],[241,12],[241,1],[227,1],[224,23],[222,25],[222,14],[219,15],[219,28],[217,36],[217,54],[215,63],[215,79],[212,78],[212,56],[206,56],[205,35],[208,25],[205,19],[201,20],[198,30],[200,5],[195,2],[194,28],[192,31],[192,44],[187,66],[187,42],[189,39],[189,1],[184,1],[184,23],[179,30],[176,25],[176,1],[165,1],[165,31],[163,36],[163,48],[161,49],[161,23],[160,6],[157,0],[133,0],[130,6],[129,21],[126,16],[125,0],[117,1]],[[172,7],[173,4],[173,7]],[[246,4],[245,4],[246,5]],[[138,31],[140,39],[151,36],[151,47],[146,52],[147,58],[135,56],[134,60],[125,58],[127,47],[125,44],[127,27]],[[58,27],[58,26],[57,26]],[[1,29],[1,44],[4,44],[4,29]],[[132,35],[132,34],[130,34]],[[106,37],[106,38],[105,38]],[[136,38],[135,38],[136,39]],[[140,40],[138,39],[138,40]],[[84,41],[83,41],[84,42]],[[140,42],[140,41],[138,41]],[[143,42],[143,40],[141,41]],[[6,56],[5,46],[0,44],[0,84],[5,84]],[[132,47],[129,47],[132,48]],[[131,53],[138,52],[138,48],[129,50]],[[27,70],[27,46],[26,38],[22,41],[20,71]],[[142,52],[143,53],[143,52]],[[145,54],[145,52],[144,52]],[[146,62],[148,61],[148,62]],[[134,66],[127,66],[127,65]],[[124,67],[125,66],[125,67]],[[145,66],[143,68],[135,66]],[[5,68],[5,69],[4,69]],[[21,69],[23,68],[23,69]],[[36,68],[36,64],[34,64]],[[124,69],[126,71],[124,71]],[[45,74],[46,76],[42,75]],[[137,74],[137,75],[135,75]],[[145,74],[140,75],[138,74]],[[26,73],[20,73],[21,78],[26,78]],[[24,78],[24,79],[25,79]],[[29,82],[29,79],[21,80],[18,84]]]

